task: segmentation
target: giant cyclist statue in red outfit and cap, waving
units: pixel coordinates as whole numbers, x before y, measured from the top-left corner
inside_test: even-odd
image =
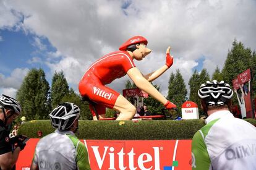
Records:
[[[79,91],[83,98],[94,103],[89,104],[93,120],[105,117],[106,107],[119,111],[120,114],[116,120],[130,120],[134,117],[136,111],[134,105],[113,89],[105,87],[106,84],[126,74],[138,88],[153,96],[166,108],[176,108],[175,104],[166,100],[150,83],[173,65],[173,56],[169,55],[170,47],[166,50],[166,63],[155,72],[142,75],[135,67],[134,59],[140,61],[151,52],[151,49],[147,48],[147,43],[143,36],[134,36],[119,47],[120,51],[106,54],[85,72],[79,83]]]

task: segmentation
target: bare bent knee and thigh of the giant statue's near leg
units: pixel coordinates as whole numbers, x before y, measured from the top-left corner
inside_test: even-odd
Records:
[[[124,96],[119,95],[116,103],[114,104],[114,109],[120,112],[116,121],[127,121],[134,117],[136,108],[132,105]]]

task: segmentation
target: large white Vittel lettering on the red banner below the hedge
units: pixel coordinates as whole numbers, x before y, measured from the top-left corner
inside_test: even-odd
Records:
[[[140,155],[137,155],[134,153],[134,148],[131,148],[129,153],[124,153],[124,148],[121,148],[121,150],[115,151],[114,147],[104,147],[104,152],[100,153],[98,146],[92,146],[93,153],[96,158],[96,162],[98,164],[99,169],[102,168],[103,163],[106,164],[105,160],[108,156],[108,169],[114,170],[114,169],[153,169],[153,166],[145,167],[144,163],[152,163],[154,165],[155,170],[160,170],[160,148],[159,147],[152,147],[153,155],[150,155],[149,153],[141,153]],[[127,164],[125,164],[124,159],[128,157]],[[136,157],[137,159],[134,159]],[[118,167],[115,166],[115,161],[118,159]],[[129,164],[128,164],[129,163]],[[138,165],[135,166],[135,164]]]

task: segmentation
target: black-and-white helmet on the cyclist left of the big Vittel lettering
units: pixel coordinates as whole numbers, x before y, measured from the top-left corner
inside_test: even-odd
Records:
[[[59,130],[66,130],[74,124],[75,120],[79,119],[80,109],[74,103],[59,104],[51,113],[49,117],[54,128]]]

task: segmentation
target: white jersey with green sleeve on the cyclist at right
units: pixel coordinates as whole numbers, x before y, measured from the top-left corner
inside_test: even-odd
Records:
[[[256,127],[229,111],[206,119],[192,140],[193,169],[256,169]]]

